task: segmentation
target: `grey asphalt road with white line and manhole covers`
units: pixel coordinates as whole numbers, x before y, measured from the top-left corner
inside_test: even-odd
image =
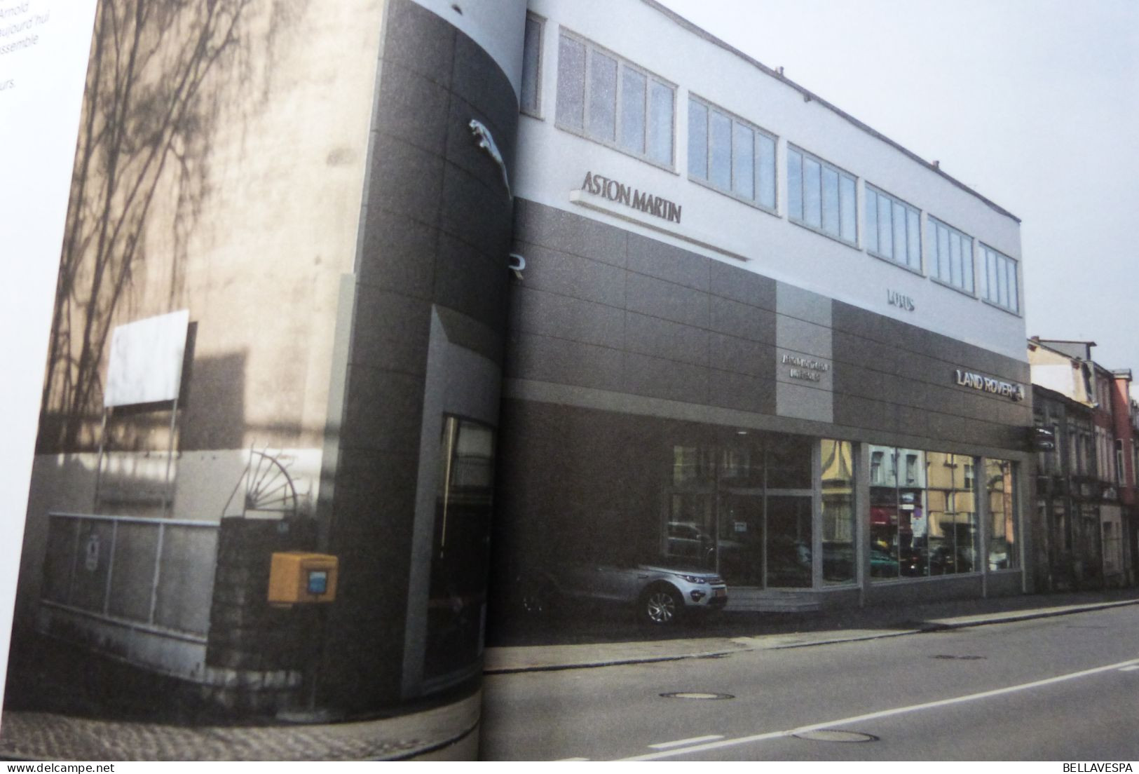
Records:
[[[485,759],[1137,761],[1139,605],[483,689]]]

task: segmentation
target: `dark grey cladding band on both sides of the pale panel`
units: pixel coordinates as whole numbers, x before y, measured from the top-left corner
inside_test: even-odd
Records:
[[[515,249],[509,376],[775,414],[773,280],[534,202],[516,204]],[[1026,362],[838,301],[831,325],[843,437],[1023,448],[1031,405],[954,369],[1027,384]]]

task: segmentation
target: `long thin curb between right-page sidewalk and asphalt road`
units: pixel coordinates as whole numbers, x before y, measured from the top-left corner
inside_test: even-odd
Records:
[[[1038,608],[1034,610],[1025,611],[1008,611],[1007,613],[992,613],[989,616],[978,617],[959,617],[960,620],[952,618],[948,619],[932,619],[926,625],[919,628],[909,629],[896,629],[887,630],[882,634],[871,635],[858,635],[858,636],[834,636],[826,639],[816,639],[811,642],[797,642],[788,643],[785,645],[740,645],[738,647],[714,650],[714,651],[700,651],[697,653],[677,653],[671,655],[647,655],[647,657],[629,657],[621,659],[609,659],[605,661],[579,661],[570,663],[548,663],[548,665],[536,665],[530,667],[491,667],[484,668],[484,675],[514,675],[526,671],[562,671],[566,669],[596,669],[600,667],[620,667],[631,663],[656,663],[662,661],[682,661],[686,659],[711,659],[719,658],[723,655],[731,655],[734,653],[751,653],[760,650],[790,650],[795,647],[814,647],[817,645],[836,645],[847,642],[866,642],[870,639],[884,639],[887,637],[904,637],[913,634],[932,634],[936,632],[952,632],[956,629],[967,629],[976,626],[989,626],[991,624],[1011,624],[1015,621],[1029,621],[1038,618],[1057,618],[1059,616],[1071,616],[1074,613],[1091,612],[1095,610],[1106,610],[1109,608],[1122,608],[1125,605],[1139,604],[1139,598],[1137,600],[1121,600],[1116,602],[1095,602],[1081,605],[1066,605],[1062,608]],[[837,633],[836,633],[837,634]]]

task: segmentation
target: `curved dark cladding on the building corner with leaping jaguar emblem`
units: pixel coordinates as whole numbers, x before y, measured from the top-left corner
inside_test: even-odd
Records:
[[[318,685],[352,712],[401,699],[433,304],[485,326],[451,341],[502,361],[511,199],[468,124],[513,170],[518,117],[498,64],[443,18],[393,0],[384,30],[328,531],[341,586]]]

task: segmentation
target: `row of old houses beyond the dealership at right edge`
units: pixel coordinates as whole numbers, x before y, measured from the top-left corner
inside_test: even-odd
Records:
[[[1035,587],[1130,586],[1139,560],[1139,404],[1131,369],[1091,341],[1029,340],[1035,432]]]

